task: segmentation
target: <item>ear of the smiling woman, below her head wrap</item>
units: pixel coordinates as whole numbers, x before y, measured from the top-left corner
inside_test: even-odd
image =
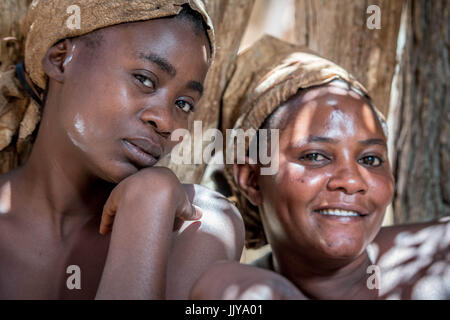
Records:
[[[239,190],[254,205],[261,204],[261,192],[258,185],[259,166],[250,164],[245,157],[245,164],[233,165],[233,176]]]

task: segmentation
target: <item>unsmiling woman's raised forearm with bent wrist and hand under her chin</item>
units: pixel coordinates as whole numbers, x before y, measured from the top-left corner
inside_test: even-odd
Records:
[[[105,204],[101,232],[112,226],[97,299],[163,299],[175,217],[196,210],[166,168],[147,168],[123,180]]]

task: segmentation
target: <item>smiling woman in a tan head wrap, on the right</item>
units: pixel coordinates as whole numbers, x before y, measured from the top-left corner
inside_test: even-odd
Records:
[[[269,299],[450,296],[449,238],[436,244],[424,236],[448,233],[448,223],[381,228],[394,193],[386,125],[365,88],[345,70],[265,37],[239,57],[224,112],[225,125],[235,129],[279,130],[272,151],[278,150],[272,155],[277,173],[263,175],[264,165],[250,161],[225,171],[244,217],[247,247],[268,242],[272,252],[254,262],[261,268],[217,264],[193,297],[264,291]],[[391,250],[399,243],[396,252],[404,256],[393,261]],[[406,243],[420,249],[408,250]],[[426,288],[420,294],[419,283]]]

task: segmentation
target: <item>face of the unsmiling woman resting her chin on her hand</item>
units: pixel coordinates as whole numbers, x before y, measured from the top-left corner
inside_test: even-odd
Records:
[[[189,21],[166,18],[101,30],[90,48],[81,38],[57,86],[61,145],[96,175],[119,182],[153,166],[187,128],[209,67],[206,34]],[[52,84],[51,84],[52,85]],[[51,88],[51,86],[50,86]]]

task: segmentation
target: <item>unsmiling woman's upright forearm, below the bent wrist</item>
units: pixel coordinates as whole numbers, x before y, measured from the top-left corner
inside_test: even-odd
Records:
[[[169,193],[120,203],[97,299],[164,298],[176,211]]]

